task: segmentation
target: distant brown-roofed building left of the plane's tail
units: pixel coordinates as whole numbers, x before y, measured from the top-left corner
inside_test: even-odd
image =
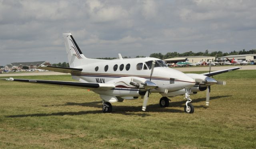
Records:
[[[45,65],[45,66],[52,66],[50,62],[47,61],[40,61],[40,62],[18,62],[18,63],[11,63],[10,65],[4,66],[5,70],[22,70],[23,66],[28,66],[28,69],[36,69],[40,65]]]

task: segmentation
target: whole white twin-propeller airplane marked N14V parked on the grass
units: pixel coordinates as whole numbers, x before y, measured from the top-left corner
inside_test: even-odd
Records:
[[[82,54],[71,33],[63,34],[63,38],[70,68],[39,66],[38,69],[70,73],[72,78],[79,82],[14,78],[2,80],[91,89],[100,95],[104,113],[112,112],[111,103],[122,102],[124,99],[132,100],[143,97],[142,110],[145,111],[150,93],[160,93],[163,96],[160,99],[160,107],[169,105],[168,97],[185,94],[187,101],[184,111],[193,113],[194,106],[190,103],[192,101],[190,93],[207,90],[206,102],[208,103],[210,85],[225,84],[210,76],[240,69],[236,67],[206,74],[184,74],[168,68],[162,60],[157,58],[123,59],[119,54],[119,59],[115,60],[90,59]]]

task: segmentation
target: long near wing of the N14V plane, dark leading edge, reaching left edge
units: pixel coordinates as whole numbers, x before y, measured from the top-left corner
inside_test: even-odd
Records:
[[[51,85],[61,85],[73,88],[82,89],[112,89],[115,88],[114,84],[111,83],[87,83],[87,82],[73,82],[73,81],[51,81],[51,80],[36,80],[36,79],[14,79],[10,77],[9,79],[0,79],[1,81],[22,81],[29,83],[41,83],[41,84],[51,84]]]

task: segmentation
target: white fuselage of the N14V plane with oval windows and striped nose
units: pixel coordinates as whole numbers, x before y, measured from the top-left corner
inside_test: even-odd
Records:
[[[85,71],[72,73],[72,78],[81,82],[94,83],[107,83],[120,77],[142,77],[144,79],[150,79],[150,64],[152,64],[152,60],[163,63],[162,60],[157,58],[105,60],[79,66],[79,68]],[[148,64],[146,62],[148,62]],[[151,92],[164,93],[178,91],[184,89],[184,87],[191,88],[195,85],[195,80],[188,75],[168,68],[167,66],[160,65],[155,66],[151,81],[158,85],[158,87],[152,89]],[[116,86],[116,89],[130,89],[133,91],[134,88],[130,87],[131,86],[127,84],[120,87]],[[138,89],[135,90],[137,91]]]

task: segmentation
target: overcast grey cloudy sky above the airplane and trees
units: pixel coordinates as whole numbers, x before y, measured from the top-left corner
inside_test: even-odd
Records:
[[[256,49],[256,0],[0,0],[0,66],[67,62],[62,33],[87,58]]]

